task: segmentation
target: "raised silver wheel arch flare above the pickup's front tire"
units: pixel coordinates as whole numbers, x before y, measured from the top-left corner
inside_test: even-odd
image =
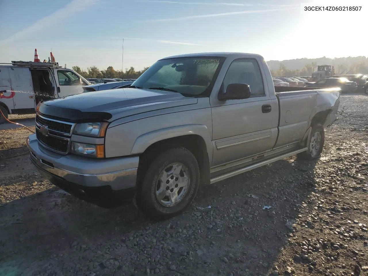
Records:
[[[210,131],[205,125],[201,124],[187,124],[178,125],[175,127],[161,128],[159,130],[147,132],[140,135],[134,142],[131,155],[138,155],[143,153],[152,144],[175,137],[184,135],[199,135],[206,144],[209,160],[212,160],[212,143]]]

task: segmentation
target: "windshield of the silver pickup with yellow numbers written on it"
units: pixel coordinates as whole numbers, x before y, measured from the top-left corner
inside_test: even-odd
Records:
[[[153,64],[132,85],[163,88],[186,96],[208,96],[223,63],[223,57],[181,57]]]

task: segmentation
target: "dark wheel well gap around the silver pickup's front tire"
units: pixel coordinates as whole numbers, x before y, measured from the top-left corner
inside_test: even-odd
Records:
[[[170,148],[183,147],[188,149],[197,159],[201,181],[209,184],[209,159],[204,139],[195,134],[164,139],[150,145],[140,156],[138,165],[138,176],[146,171],[153,159],[160,153]]]

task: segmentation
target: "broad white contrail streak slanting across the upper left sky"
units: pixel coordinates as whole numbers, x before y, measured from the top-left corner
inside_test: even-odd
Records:
[[[72,0],[63,8],[60,8],[54,13],[41,18],[31,26],[28,26],[21,31],[14,33],[13,35],[1,40],[0,42],[12,42],[14,40],[24,41],[26,37],[32,37],[34,35],[40,36],[43,29],[60,24],[66,18],[71,17],[73,14],[80,13],[81,11],[86,10],[92,5],[97,4],[99,1],[100,0]]]

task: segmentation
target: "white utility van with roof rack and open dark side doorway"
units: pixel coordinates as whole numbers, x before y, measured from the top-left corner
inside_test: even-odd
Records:
[[[31,114],[40,100],[83,92],[89,81],[57,62],[12,61],[0,63],[0,109],[8,114]],[[0,124],[6,120],[0,113]]]

